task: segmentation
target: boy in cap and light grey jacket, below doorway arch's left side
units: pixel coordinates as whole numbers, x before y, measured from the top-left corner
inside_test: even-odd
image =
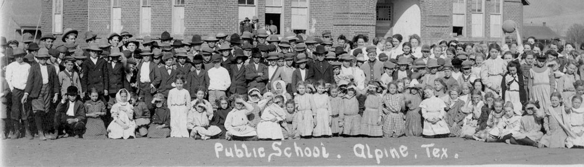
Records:
[[[371,80],[377,81],[381,78],[383,64],[377,60],[377,47],[375,46],[367,47],[367,57],[369,60],[361,65],[361,70],[365,72],[365,82],[369,83]]]

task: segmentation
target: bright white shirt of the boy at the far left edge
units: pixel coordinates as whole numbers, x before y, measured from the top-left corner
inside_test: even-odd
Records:
[[[6,66],[6,82],[12,91],[14,88],[24,90],[26,88],[26,80],[29,78],[30,64],[26,62],[18,63],[11,62]]]

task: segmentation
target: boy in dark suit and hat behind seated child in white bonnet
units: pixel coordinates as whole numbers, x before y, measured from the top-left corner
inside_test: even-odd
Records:
[[[126,71],[124,71],[124,65],[120,62],[120,57],[122,53],[118,50],[118,48],[112,48],[112,51],[108,55],[110,57],[109,64],[106,65],[107,67],[107,75],[109,76],[109,88],[107,92],[109,92],[109,103],[108,107],[112,107],[116,103],[116,93],[120,89],[128,89],[126,87],[127,80],[126,78]],[[129,89],[128,89],[129,90]]]

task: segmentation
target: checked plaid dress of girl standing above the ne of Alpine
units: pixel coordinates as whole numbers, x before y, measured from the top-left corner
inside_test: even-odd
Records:
[[[401,93],[390,94],[384,97],[383,137],[400,137],[404,135],[405,120],[401,112],[404,106],[404,95]]]

